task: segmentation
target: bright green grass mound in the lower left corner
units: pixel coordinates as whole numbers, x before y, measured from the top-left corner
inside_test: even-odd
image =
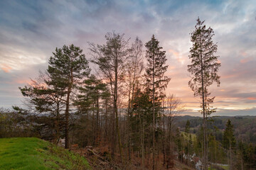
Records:
[[[90,169],[86,159],[36,137],[0,139],[0,169]]]

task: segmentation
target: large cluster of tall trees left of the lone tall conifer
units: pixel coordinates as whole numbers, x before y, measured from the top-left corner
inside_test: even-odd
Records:
[[[67,149],[70,143],[109,145],[112,159],[124,162],[125,155],[131,160],[136,153],[143,167],[147,158],[147,164],[156,169],[162,150],[156,145],[163,130],[161,101],[170,81],[164,76],[166,52],[154,35],[145,44],[146,52],[139,38],[132,45],[118,33],[107,33],[105,38],[104,45],[89,43],[90,61],[98,67],[95,74],[90,73],[80,47],[64,45],[55,49],[46,72],[19,88],[29,113],[43,118],[32,125],[38,135],[55,143],[65,138]]]

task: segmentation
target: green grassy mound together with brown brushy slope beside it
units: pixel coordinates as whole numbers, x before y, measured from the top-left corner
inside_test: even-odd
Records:
[[[77,154],[67,149],[56,147],[50,142],[40,140],[36,137],[16,137],[0,139],[0,169],[1,170],[48,170],[48,169],[141,169],[138,162],[122,164],[122,162],[111,162],[107,157],[92,149],[77,148]],[[95,152],[93,152],[93,150]],[[90,162],[88,165],[87,158]],[[164,169],[159,164],[158,169]],[[191,169],[188,166],[175,162],[174,170]]]

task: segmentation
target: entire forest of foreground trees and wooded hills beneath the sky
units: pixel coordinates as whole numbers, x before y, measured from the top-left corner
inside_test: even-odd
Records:
[[[48,69],[18,87],[25,106],[1,108],[0,137],[90,148],[94,169],[256,169],[256,118],[214,116],[209,86],[220,86],[221,64],[213,35],[198,18],[184,70],[202,117],[180,115],[186,109],[166,91],[175,80],[154,35],[130,42],[112,31],[103,44],[88,42],[88,57],[73,44],[56,47]]]

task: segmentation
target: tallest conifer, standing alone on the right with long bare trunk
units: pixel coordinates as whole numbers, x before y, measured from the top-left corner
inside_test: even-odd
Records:
[[[203,113],[203,159],[204,159],[204,169],[206,169],[207,164],[207,141],[206,141],[206,119],[211,113],[208,108],[208,103],[213,103],[213,98],[208,98],[210,92],[208,91],[208,86],[213,84],[215,81],[218,86],[220,85],[220,77],[218,76],[218,69],[220,63],[218,62],[218,56],[215,55],[218,46],[213,43],[212,37],[214,35],[212,28],[206,28],[199,18],[195,26],[195,30],[191,33],[191,42],[193,46],[190,49],[189,58],[191,59],[191,64],[188,65],[188,72],[190,72],[193,77],[188,81],[188,85],[194,91],[194,96],[200,96],[202,103],[202,113]]]

